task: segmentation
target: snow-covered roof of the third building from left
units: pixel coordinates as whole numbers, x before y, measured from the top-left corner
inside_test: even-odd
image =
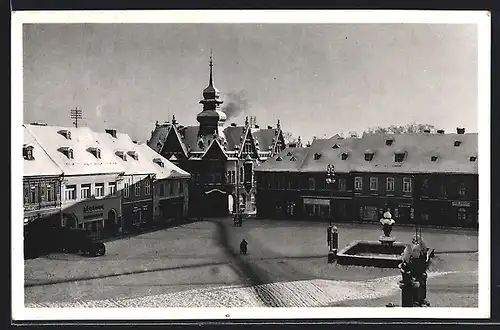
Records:
[[[112,151],[115,159],[125,169],[125,174],[152,174],[155,173],[154,164],[147,155],[141,152],[140,145],[132,141],[128,134],[116,133],[116,138],[109,133],[95,133],[99,141]],[[133,155],[136,158],[132,157]],[[121,156],[125,155],[125,157]]]

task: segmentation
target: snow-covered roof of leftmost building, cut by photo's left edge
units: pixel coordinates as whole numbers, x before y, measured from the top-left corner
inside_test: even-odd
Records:
[[[43,150],[42,146],[35,140],[33,135],[23,126],[24,144],[23,146],[32,147],[33,159],[24,159],[24,176],[59,176],[62,170],[50,159],[49,155]]]

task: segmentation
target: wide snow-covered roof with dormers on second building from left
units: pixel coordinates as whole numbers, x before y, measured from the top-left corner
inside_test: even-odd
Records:
[[[113,152],[88,127],[23,125],[39,142],[64,175],[123,173]],[[70,133],[67,138],[64,135]],[[100,158],[94,150],[99,150]],[[72,151],[72,152],[71,152]],[[69,153],[73,158],[68,157]]]

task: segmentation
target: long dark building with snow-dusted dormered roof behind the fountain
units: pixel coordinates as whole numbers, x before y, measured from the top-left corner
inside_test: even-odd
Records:
[[[474,227],[477,134],[367,134],[288,148],[256,169],[262,217]],[[333,165],[336,181],[326,183]],[[293,215],[288,205],[293,205]]]

